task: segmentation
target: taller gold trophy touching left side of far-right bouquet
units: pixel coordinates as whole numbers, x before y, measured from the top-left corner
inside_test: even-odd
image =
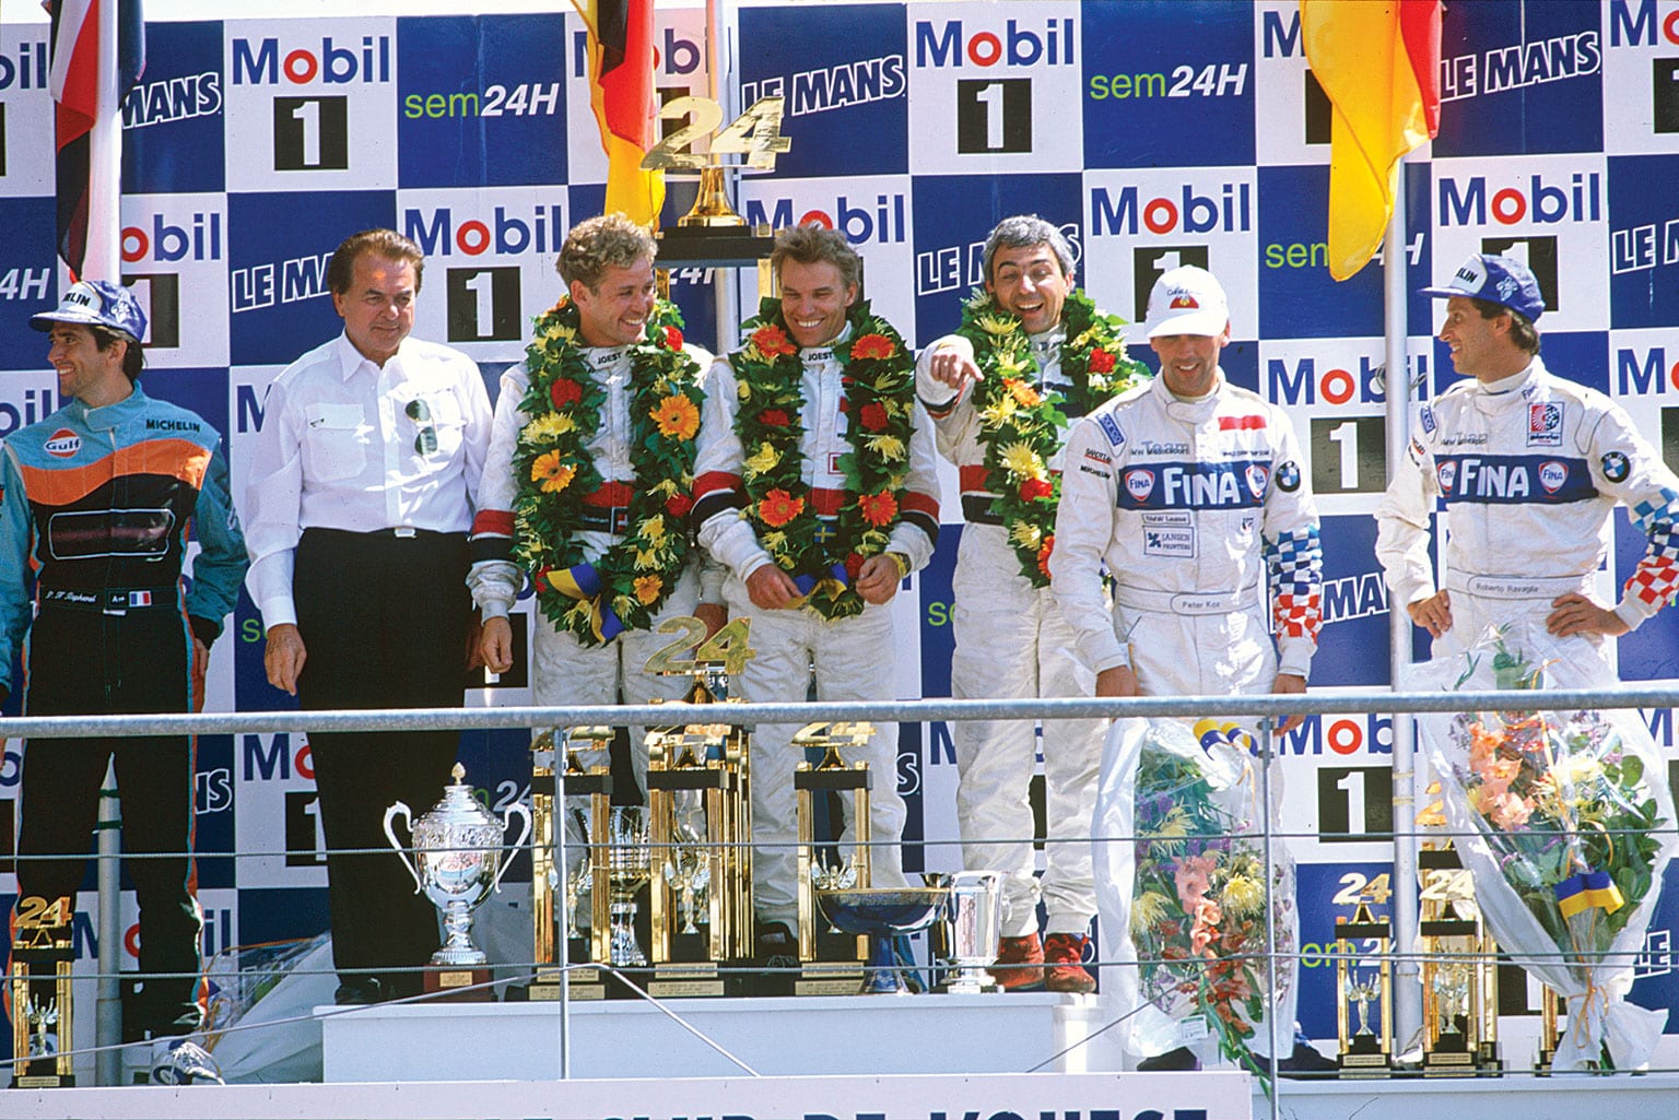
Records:
[[[1481,922],[1474,880],[1446,841],[1417,853],[1422,877],[1422,1071],[1496,1073],[1498,944]]]

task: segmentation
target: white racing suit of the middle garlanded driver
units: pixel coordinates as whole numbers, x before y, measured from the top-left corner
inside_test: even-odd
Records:
[[[801,477],[808,482],[818,512],[836,512],[845,492],[840,457],[851,448],[846,416],[841,411],[845,391],[841,366],[831,349],[806,349],[799,354],[804,379],[804,430]],[[705,385],[705,410],[700,421],[700,457],[695,467],[693,521],[700,544],[727,571],[724,599],[734,618],[751,616],[752,660],[740,675],[740,695],[751,704],[796,704],[808,699],[811,667],[816,670],[818,700],[892,700],[897,683],[892,603],[870,604],[861,615],[828,621],[809,608],[764,611],[752,604],[745,578],[771,561],[745,519],[745,490],[740,484],[742,452],[735,435],[734,369],[727,359],[712,366]],[[932,556],[939,536],[939,477],[934,462],[932,432],[920,406],[915,408],[910,438],[910,470],[903,495],[902,521],[892,531],[888,551],[902,552],[910,571],[918,571]],[[759,724],[752,735],[752,885],[761,922],[786,922],[798,929],[798,816],[792,789],[794,767],[803,751],[792,747],[796,724]],[[858,761],[848,756],[848,762]],[[873,777],[870,791],[870,833],[873,848],[873,885],[905,887],[903,836],[905,806],[898,794],[897,729],[878,729],[861,761]],[[850,831],[851,801],[841,799]]]

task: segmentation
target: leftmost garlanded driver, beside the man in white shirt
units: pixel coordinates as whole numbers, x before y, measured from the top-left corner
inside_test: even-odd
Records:
[[[658,625],[698,615],[715,631],[727,618],[702,594],[687,531],[710,354],[685,344],[677,309],[655,299],[655,252],[621,213],[578,223],[556,262],[568,294],[537,317],[495,401],[467,584],[484,611],[484,662],[505,673],[507,613],[531,579],[547,620],[532,641],[542,705],[680,699],[685,678],[643,668],[670,643]],[[630,742],[645,789],[641,729]],[[606,751],[579,761],[604,766]]]

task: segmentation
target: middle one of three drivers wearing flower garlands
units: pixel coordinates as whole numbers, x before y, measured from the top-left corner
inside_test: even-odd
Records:
[[[693,524],[729,569],[724,598],[752,615],[740,692],[799,702],[816,667],[819,700],[890,700],[900,581],[939,537],[932,428],[915,401],[903,339],[858,301],[863,260],[841,233],[776,235],[781,299],[742,324],[747,344],[712,366],[700,425]],[[794,724],[752,739],[752,855],[759,957],[792,957],[798,919]],[[871,885],[905,887],[898,752],[873,735]],[[851,803],[845,801],[846,828]]]

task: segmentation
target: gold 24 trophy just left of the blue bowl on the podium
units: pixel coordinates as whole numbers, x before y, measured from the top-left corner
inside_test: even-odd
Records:
[[[823,759],[816,766],[799,762],[792,774],[798,811],[798,892],[799,892],[799,976],[792,982],[796,996],[855,996],[863,987],[868,939],[845,934],[829,924],[816,903],[816,892],[873,887],[868,821],[868,791],[873,776],[868,762],[846,764],[841,749],[863,749],[875,734],[873,724],[809,724],[792,737],[794,747],[818,747]],[[826,845],[816,838],[816,803],[829,796],[851,801],[851,853],[829,861]],[[838,845],[834,846],[838,851]]]

